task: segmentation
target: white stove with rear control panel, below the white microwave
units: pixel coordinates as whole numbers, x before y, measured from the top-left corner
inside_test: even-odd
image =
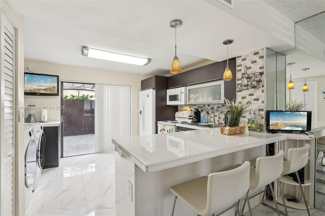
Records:
[[[175,113],[175,120],[158,121],[157,132],[158,133],[172,133],[176,132],[176,124],[189,123],[192,121],[191,111],[178,111]]]

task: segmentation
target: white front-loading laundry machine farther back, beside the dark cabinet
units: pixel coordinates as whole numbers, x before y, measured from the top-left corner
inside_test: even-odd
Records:
[[[43,132],[43,125],[41,123],[26,123],[26,125],[32,126],[34,137],[37,143],[37,168],[36,168],[36,178],[32,191],[34,192],[36,187],[39,185],[42,170],[45,162],[45,134]]]

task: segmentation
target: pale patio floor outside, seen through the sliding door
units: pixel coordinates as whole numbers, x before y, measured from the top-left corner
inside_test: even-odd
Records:
[[[63,136],[63,157],[95,152],[95,134]]]

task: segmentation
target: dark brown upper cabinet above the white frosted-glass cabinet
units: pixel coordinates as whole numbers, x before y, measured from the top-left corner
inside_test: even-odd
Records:
[[[215,62],[186,72],[187,86],[222,80],[224,62]],[[222,71],[222,74],[221,74]]]

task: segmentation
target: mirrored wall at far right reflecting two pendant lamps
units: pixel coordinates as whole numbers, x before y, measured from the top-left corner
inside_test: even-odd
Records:
[[[302,31],[303,30],[303,31]],[[291,77],[295,89],[286,90],[286,102],[301,100],[305,110],[311,110],[312,128],[325,125],[325,12],[296,23],[296,48],[281,52],[285,55],[286,63],[295,62],[291,65]],[[309,68],[308,70],[303,70]],[[286,85],[290,79],[290,67],[286,66]],[[302,91],[304,84],[309,91]],[[285,87],[286,87],[285,85]],[[316,136],[325,136],[325,130],[317,131]],[[317,147],[316,147],[317,148]],[[319,154],[321,157],[321,154]],[[323,162],[325,165],[325,163]],[[321,181],[325,166],[316,162],[315,172],[315,208],[325,211],[325,182]]]

